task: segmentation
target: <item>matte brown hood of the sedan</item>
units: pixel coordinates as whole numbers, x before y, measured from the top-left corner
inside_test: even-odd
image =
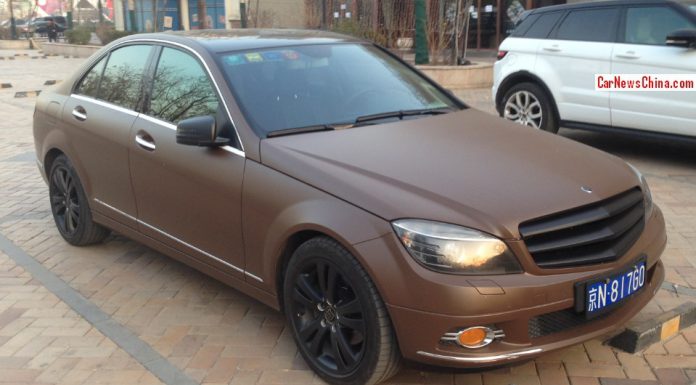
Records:
[[[473,109],[265,139],[261,159],[386,220],[436,220],[504,239],[519,238],[523,221],[639,183],[617,157]]]

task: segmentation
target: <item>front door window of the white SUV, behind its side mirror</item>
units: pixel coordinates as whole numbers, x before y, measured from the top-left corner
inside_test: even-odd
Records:
[[[671,7],[636,7],[626,11],[626,43],[665,45],[667,35],[696,25]]]

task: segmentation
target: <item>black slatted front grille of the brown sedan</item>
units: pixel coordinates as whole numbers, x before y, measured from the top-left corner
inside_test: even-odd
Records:
[[[539,267],[610,262],[640,237],[644,216],[643,193],[635,188],[588,206],[524,222],[520,234]]]

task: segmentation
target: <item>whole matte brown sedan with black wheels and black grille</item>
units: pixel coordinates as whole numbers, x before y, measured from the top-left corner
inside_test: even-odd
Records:
[[[341,35],[130,36],[41,94],[34,134],[66,241],[114,230],[283,311],[331,383],[579,343],[664,277],[633,167]]]

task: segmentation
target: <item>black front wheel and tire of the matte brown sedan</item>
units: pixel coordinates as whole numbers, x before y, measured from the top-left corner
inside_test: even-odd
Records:
[[[307,364],[331,384],[377,384],[399,368],[387,310],[358,261],[336,241],[302,244],[285,274],[288,324]]]

